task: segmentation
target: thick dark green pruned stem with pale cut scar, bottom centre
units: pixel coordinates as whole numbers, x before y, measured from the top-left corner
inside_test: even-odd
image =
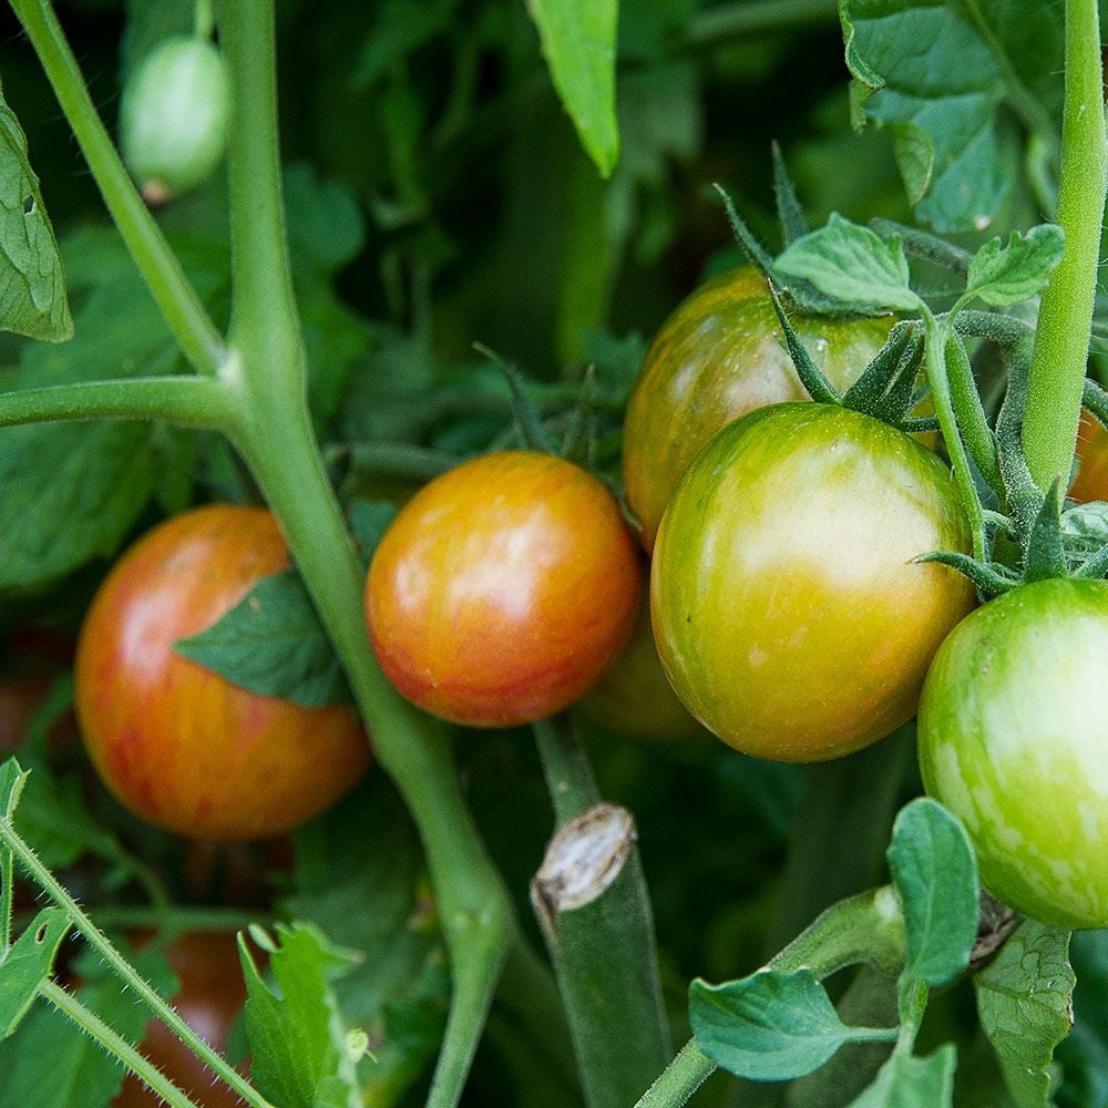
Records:
[[[532,899],[562,991],[585,1102],[626,1108],[670,1057],[634,827],[622,809],[601,807],[568,717],[538,720],[533,730],[560,831],[532,882]],[[592,854],[588,862],[582,852]],[[593,876],[585,903],[560,902],[566,868],[577,881]]]

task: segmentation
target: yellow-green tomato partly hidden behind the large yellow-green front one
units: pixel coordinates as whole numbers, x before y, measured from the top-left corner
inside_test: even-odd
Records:
[[[893,322],[792,317],[838,389],[853,383]],[[681,473],[720,428],[757,408],[807,399],[752,267],[714,278],[678,305],[643,359],[624,421],[624,483],[646,550]]]

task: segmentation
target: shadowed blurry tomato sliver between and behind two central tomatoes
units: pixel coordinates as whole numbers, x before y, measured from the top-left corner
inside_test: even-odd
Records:
[[[581,701],[591,719],[638,739],[688,739],[702,735],[669,684],[654,645],[649,592],[627,645],[596,687]]]

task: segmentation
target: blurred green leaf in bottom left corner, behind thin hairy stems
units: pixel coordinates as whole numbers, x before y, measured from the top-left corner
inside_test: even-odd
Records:
[[[129,961],[158,993],[173,995],[176,984],[160,954],[141,951]],[[124,1038],[138,1042],[150,1009],[120,987],[94,952],[84,951],[74,970],[84,982],[78,998]],[[104,1108],[119,1092],[123,1073],[119,1061],[76,1024],[39,1004],[10,1039],[0,1043],[0,1108]]]

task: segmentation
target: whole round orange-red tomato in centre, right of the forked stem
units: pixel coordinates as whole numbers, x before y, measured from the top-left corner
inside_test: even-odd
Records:
[[[568,707],[612,665],[638,609],[635,545],[607,489],[532,451],[425,485],[377,548],[366,616],[413,704],[474,727]]]

